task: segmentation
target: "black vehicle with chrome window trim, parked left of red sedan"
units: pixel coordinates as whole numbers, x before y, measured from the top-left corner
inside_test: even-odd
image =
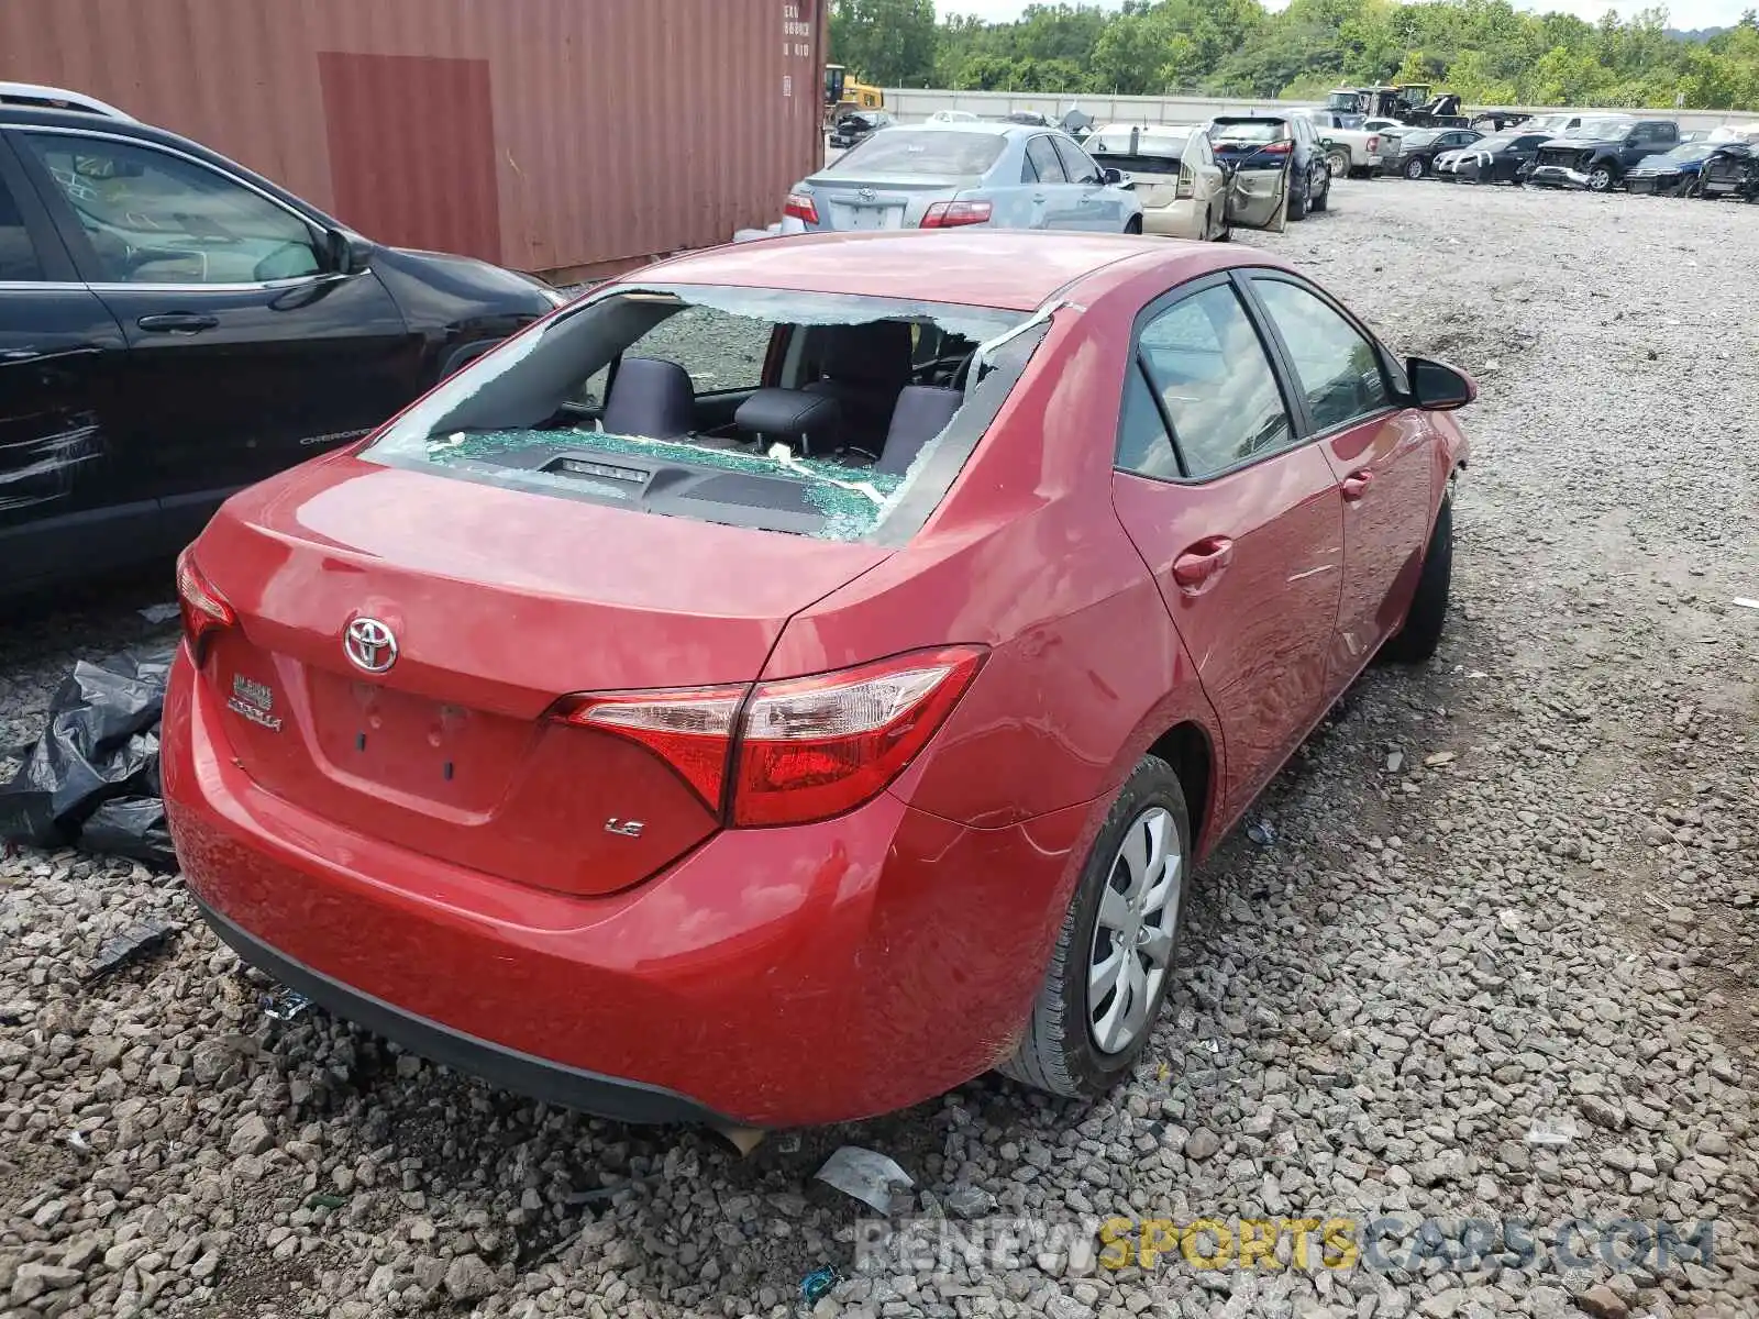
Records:
[[[563,301],[0,83],[0,594],[150,563]]]

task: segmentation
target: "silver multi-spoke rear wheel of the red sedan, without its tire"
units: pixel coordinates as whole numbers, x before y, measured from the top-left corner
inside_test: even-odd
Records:
[[[1149,1029],[1171,969],[1184,897],[1184,855],[1171,813],[1150,805],[1124,832],[1087,957],[1087,1029],[1101,1053],[1122,1053]]]

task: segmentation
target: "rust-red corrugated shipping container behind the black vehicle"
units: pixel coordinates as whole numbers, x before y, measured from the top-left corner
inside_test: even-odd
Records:
[[[369,237],[589,273],[820,164],[825,0],[7,0],[0,79],[107,100]]]

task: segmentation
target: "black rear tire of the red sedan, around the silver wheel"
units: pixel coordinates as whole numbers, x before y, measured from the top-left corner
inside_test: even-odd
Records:
[[[1152,925],[1149,941],[1154,944],[1156,955],[1164,957],[1164,960],[1159,966],[1157,980],[1154,980],[1154,971],[1145,971],[1140,981],[1128,981],[1126,988],[1124,967],[1145,967],[1149,953],[1143,950],[1149,944],[1131,939],[1126,930],[1120,948],[1119,937],[1103,927],[1099,909],[1101,899],[1108,892],[1113,895],[1113,902],[1106,906],[1113,911],[1131,906],[1124,890],[1117,888],[1119,883],[1147,883],[1145,892],[1152,895],[1152,876],[1142,874],[1142,867],[1133,869],[1129,864],[1133,856],[1154,856],[1150,821],[1161,825],[1159,835],[1166,848],[1166,860],[1177,862],[1171,874],[1171,893],[1166,897],[1170,909],[1161,909],[1163,918]],[[1177,846],[1177,853],[1171,853],[1173,846]],[[1082,867],[1069,909],[1062,916],[1062,929],[1057,932],[1057,944],[1050,953],[1050,966],[1045,969],[1045,983],[1033,1004],[1033,1017],[1013,1053],[997,1066],[999,1073],[1066,1099],[1091,1099],[1105,1094],[1129,1073],[1154,1032],[1154,1020],[1166,1001],[1166,988],[1173,981],[1189,874],[1191,813],[1186,807],[1184,788],[1171,765],[1156,756],[1143,756],[1119,791],[1117,800],[1112,802],[1099,837],[1094,839],[1092,851],[1087,853],[1087,864]],[[1128,920],[1126,916],[1126,923]],[[1142,929],[1150,927],[1143,925]],[[1101,944],[1106,944],[1110,953],[1096,957]],[[1119,980],[1110,988],[1101,987],[1099,1001],[1091,1004],[1091,973],[1106,966],[1113,957],[1119,958]],[[1120,994],[1124,1001],[1115,1002]],[[1138,994],[1143,997],[1135,997]],[[1145,1008],[1138,1008],[1138,1002]],[[1094,1008],[1101,1011],[1096,1013]],[[1106,1022],[1112,1022],[1117,1031],[1131,1027],[1128,1039],[1115,1048],[1103,1048],[1096,1038],[1106,1031]]]

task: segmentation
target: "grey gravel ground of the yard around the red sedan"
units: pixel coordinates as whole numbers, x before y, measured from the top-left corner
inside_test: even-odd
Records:
[[[1759,1314],[1759,612],[1731,605],[1759,596],[1734,278],[1759,211],[1404,181],[1335,202],[1265,243],[1481,373],[1456,610],[1428,670],[1372,672],[1277,779],[1268,844],[1240,834],[1201,876],[1126,1089],[1071,1110],[985,1078],[741,1159],[278,1025],[176,879],[25,853],[0,862],[0,1308]],[[9,628],[0,744],[162,594]],[[146,913],[172,946],[81,985]],[[1404,1213],[1434,1221],[1430,1257],[864,1272],[865,1210],[811,1180],[846,1141],[915,1177],[916,1215]],[[1448,1263],[1474,1219],[1541,1249]],[[1715,1221],[1715,1257],[1613,1272],[1550,1249],[1569,1219]],[[844,1277],[802,1305],[821,1264]]]

